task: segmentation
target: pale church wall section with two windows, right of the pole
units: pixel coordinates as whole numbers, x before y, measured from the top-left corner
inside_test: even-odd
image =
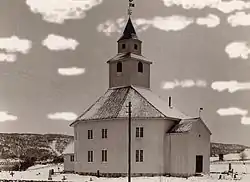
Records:
[[[164,173],[164,136],[173,126],[173,121],[166,120],[138,120],[133,124],[135,130],[136,126],[143,126],[143,139],[135,139],[132,144],[132,150],[142,148],[144,150],[144,162],[135,162],[135,153],[132,155],[132,165],[134,173]],[[135,131],[132,137],[135,138]]]

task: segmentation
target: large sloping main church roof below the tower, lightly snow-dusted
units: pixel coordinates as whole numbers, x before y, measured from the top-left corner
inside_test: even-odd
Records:
[[[166,118],[181,120],[189,118],[177,109],[170,108],[167,102],[151,90],[128,86],[108,89],[75,122],[127,118],[129,101],[132,102],[131,116],[134,119]]]

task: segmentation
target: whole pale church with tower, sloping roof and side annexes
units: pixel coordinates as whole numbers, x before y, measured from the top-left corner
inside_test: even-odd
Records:
[[[200,117],[186,116],[150,89],[151,61],[131,19],[108,60],[109,88],[70,126],[74,153],[65,170],[125,176],[128,168],[128,103],[132,103],[131,173],[191,176],[209,173],[211,132]]]

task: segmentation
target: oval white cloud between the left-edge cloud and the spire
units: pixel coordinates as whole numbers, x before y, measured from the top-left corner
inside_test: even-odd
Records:
[[[50,34],[43,40],[42,45],[50,50],[58,51],[67,49],[75,50],[79,43],[71,38]]]

